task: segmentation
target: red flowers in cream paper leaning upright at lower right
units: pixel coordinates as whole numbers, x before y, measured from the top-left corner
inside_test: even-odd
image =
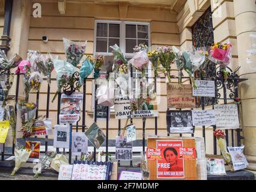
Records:
[[[213,134],[217,138],[217,143],[218,143],[219,148],[221,149],[221,154],[222,154],[225,162],[233,170],[233,166],[231,166],[231,155],[227,151],[227,142],[226,142],[226,139],[225,139],[226,134],[222,130],[215,130],[213,132]]]

